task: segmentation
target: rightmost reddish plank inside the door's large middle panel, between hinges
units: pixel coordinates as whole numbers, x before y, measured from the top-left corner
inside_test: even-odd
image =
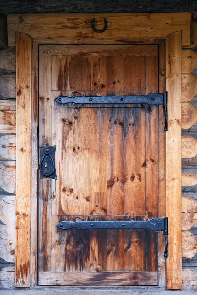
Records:
[[[145,214],[145,116],[124,108],[124,214]]]

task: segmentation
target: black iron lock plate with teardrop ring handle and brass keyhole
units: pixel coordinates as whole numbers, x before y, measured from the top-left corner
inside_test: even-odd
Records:
[[[42,178],[54,178],[57,179],[56,165],[55,165],[55,153],[56,145],[53,146],[41,146],[40,148],[40,179]]]

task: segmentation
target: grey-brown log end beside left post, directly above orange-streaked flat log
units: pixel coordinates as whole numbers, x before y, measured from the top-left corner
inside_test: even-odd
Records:
[[[16,75],[0,76],[0,99],[16,97]]]

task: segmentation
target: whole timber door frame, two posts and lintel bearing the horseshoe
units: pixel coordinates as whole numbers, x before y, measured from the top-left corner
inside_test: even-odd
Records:
[[[109,30],[93,32],[93,17],[98,24],[107,19]],[[17,61],[15,287],[37,285],[38,45],[158,44],[165,40],[168,131],[164,178],[169,240],[166,287],[182,288],[181,47],[190,44],[190,17],[190,13],[8,15],[8,42],[10,47],[16,46]],[[136,19],[142,24],[140,28],[135,27]],[[158,214],[162,217],[162,210]]]

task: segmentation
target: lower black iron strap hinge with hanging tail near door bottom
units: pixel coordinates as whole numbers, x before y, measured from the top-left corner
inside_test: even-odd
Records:
[[[76,218],[81,219],[81,217],[74,217],[74,221],[61,221],[56,224],[62,230],[69,230],[71,228],[77,228],[79,230],[90,230],[90,229],[147,229],[153,231],[163,231],[165,235],[165,252],[164,257],[167,258],[167,218],[153,218],[149,220],[125,220],[125,221],[84,221],[81,219],[80,221],[76,221]]]

